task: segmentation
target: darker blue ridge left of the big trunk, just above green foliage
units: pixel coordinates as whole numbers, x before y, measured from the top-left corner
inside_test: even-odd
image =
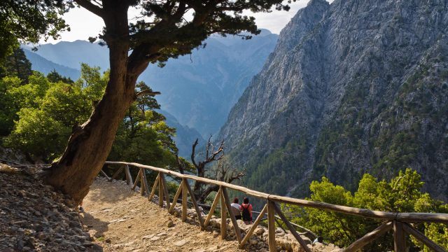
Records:
[[[80,76],[80,71],[78,69],[73,69],[68,66],[63,66],[61,64],[56,64],[51,62],[40,55],[31,52],[30,50],[24,49],[27,59],[31,62],[31,68],[41,73],[48,74],[50,71],[56,70],[62,76],[70,77],[72,80],[77,80]]]

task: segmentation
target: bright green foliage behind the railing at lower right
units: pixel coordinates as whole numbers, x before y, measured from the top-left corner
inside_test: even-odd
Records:
[[[348,207],[358,207],[390,212],[448,212],[448,204],[433,200],[427,193],[421,193],[421,176],[412,169],[400,171],[390,182],[377,181],[372,175],[365,174],[360,180],[358,190],[352,194],[349,190],[336,186],[325,177],[321,182],[313,181],[310,186],[311,197],[307,200],[327,202]],[[292,221],[311,229],[338,246],[348,246],[381,225],[381,221],[349,216],[331,211],[283,205],[283,210]],[[441,246],[448,248],[448,228],[442,224],[419,224],[416,228],[424,232]],[[413,248],[423,248],[412,239]],[[409,243],[410,244],[410,243]],[[367,245],[364,251],[391,251],[393,236],[391,232]],[[427,251],[428,248],[423,248]]]

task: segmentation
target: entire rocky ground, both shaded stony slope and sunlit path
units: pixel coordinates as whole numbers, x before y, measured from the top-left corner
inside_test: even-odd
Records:
[[[0,164],[0,251],[268,251],[267,230],[259,226],[241,250],[235,230],[221,239],[221,218],[200,230],[197,214],[188,209],[181,222],[181,206],[174,215],[130,190],[124,181],[97,178],[78,213],[73,202],[43,186],[36,170]],[[138,188],[137,188],[138,189]],[[157,198],[156,198],[157,200]],[[205,218],[205,215],[204,215]],[[239,221],[241,234],[250,225]],[[336,252],[333,245],[311,245],[311,251]],[[289,232],[276,230],[277,251],[303,251]]]

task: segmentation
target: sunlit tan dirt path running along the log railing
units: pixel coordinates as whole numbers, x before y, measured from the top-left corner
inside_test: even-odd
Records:
[[[104,251],[242,251],[236,241],[222,241],[198,225],[182,223],[123,181],[98,178],[83,207],[83,223]],[[170,221],[174,225],[168,228]]]

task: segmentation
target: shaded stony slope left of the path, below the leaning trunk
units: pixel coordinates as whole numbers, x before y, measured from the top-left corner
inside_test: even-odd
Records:
[[[0,251],[102,251],[71,200],[43,186],[32,169],[0,164]]]

